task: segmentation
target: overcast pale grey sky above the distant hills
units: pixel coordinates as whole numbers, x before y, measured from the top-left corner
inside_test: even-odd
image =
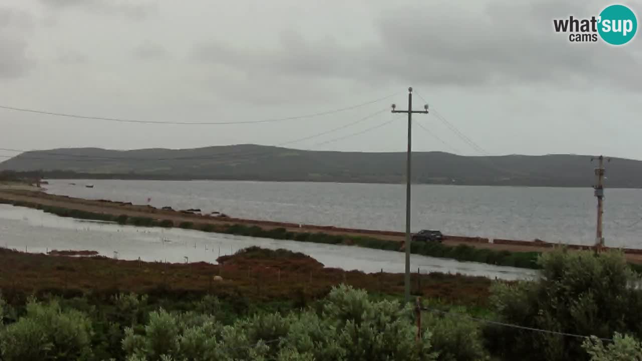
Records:
[[[0,109],[0,148],[279,145],[341,127],[408,86],[433,114],[414,150],[465,155],[605,154],[642,159],[642,34],[572,44],[555,18],[605,1],[2,0],[0,105],[152,121],[144,125]],[[629,1],[641,11],[642,1]],[[639,18],[639,15],[638,15]],[[639,32],[639,31],[638,31]],[[423,101],[415,94],[415,108]],[[345,137],[391,121],[360,136]],[[404,151],[406,118],[383,112],[293,148]],[[325,144],[338,137],[345,139]],[[0,155],[14,155],[0,151]]]

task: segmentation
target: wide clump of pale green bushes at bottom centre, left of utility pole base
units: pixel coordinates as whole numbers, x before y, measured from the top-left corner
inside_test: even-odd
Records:
[[[128,328],[130,361],[431,361],[430,333],[415,340],[410,308],[334,288],[322,312],[256,315],[221,326],[212,316],[152,312],[143,333]]]

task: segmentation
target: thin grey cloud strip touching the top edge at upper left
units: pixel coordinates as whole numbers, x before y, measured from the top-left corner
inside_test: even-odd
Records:
[[[116,1],[116,0],[40,0],[50,8],[82,8],[91,12],[126,15],[133,19],[143,19],[156,9],[154,1]]]

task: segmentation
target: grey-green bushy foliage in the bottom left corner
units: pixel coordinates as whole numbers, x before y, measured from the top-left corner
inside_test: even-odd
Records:
[[[91,360],[92,325],[76,310],[62,311],[56,301],[31,300],[26,315],[0,326],[0,359],[5,361]]]

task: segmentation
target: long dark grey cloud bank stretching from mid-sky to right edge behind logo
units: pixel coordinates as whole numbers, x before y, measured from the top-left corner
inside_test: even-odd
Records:
[[[276,49],[236,49],[221,43],[195,50],[200,62],[227,64],[274,76],[347,78],[357,82],[454,86],[554,84],[575,89],[602,84],[642,91],[642,41],[623,47],[572,44],[553,31],[553,19],[597,15],[597,1],[492,0],[483,12],[466,3],[381,13],[378,41],[358,47],[334,39],[303,39],[284,33]],[[636,38],[642,37],[638,35]],[[637,41],[636,41],[637,40]]]

